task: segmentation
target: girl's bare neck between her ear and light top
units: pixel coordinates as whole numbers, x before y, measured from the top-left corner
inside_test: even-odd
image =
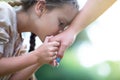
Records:
[[[32,9],[32,8],[31,8]],[[17,27],[18,33],[22,32],[32,32],[38,36],[42,35],[41,27],[39,25],[36,26],[36,22],[38,17],[35,15],[35,11],[31,11],[31,9],[26,12],[24,10],[17,11]]]

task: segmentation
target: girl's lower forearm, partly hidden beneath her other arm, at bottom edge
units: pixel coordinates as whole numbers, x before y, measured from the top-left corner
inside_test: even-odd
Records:
[[[35,71],[41,66],[42,65],[40,65],[40,64],[35,64],[28,68],[25,68],[25,69],[15,73],[10,78],[10,80],[28,80],[32,76],[32,74],[35,73]]]

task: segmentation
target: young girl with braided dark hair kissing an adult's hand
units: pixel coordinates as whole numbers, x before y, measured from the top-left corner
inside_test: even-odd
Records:
[[[56,59],[60,43],[50,42],[78,13],[76,0],[21,0],[15,10],[0,2],[0,80],[28,80],[43,64]],[[22,54],[22,32],[32,32],[44,43]],[[34,36],[34,35],[33,35]],[[46,37],[46,38],[45,38]]]

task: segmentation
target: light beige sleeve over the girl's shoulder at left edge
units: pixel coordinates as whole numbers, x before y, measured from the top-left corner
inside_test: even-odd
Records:
[[[8,38],[8,32],[16,30],[16,11],[8,3],[0,1],[0,35],[3,39]],[[8,40],[7,40],[8,41]]]

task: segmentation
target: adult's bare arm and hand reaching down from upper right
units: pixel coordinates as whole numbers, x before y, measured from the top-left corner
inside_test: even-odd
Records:
[[[116,0],[87,0],[71,25],[52,40],[61,42],[58,57],[62,58],[64,51],[74,42],[77,34],[102,15]]]

